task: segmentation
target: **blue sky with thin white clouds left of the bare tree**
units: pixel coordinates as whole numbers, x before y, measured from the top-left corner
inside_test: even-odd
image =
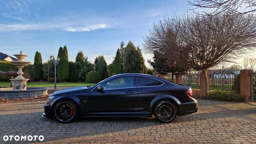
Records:
[[[89,61],[101,54],[109,64],[122,40],[143,48],[153,21],[189,8],[187,0],[0,0],[0,52],[22,50],[33,63],[39,51],[44,62],[66,45],[69,60],[81,50]]]

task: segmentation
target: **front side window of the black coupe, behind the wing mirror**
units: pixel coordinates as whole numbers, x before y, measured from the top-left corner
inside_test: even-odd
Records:
[[[117,77],[103,83],[102,86],[104,90],[133,87],[134,79],[134,76]]]

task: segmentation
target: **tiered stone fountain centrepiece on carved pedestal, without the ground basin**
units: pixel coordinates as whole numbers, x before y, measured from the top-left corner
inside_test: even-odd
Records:
[[[27,90],[27,81],[29,79],[26,79],[23,77],[23,72],[22,68],[26,67],[28,64],[30,64],[29,61],[23,61],[23,59],[27,56],[24,55],[21,51],[20,54],[14,54],[14,56],[18,59],[17,61],[10,61],[14,66],[19,68],[19,71],[17,72],[17,77],[14,79],[10,79],[12,81],[12,90],[17,91],[17,90]]]

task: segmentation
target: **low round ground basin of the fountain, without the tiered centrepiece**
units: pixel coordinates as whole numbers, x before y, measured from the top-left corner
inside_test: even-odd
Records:
[[[5,97],[5,94],[7,94],[8,99],[19,99],[19,95],[23,98],[29,98],[34,97],[37,94],[47,95],[48,92],[47,87],[27,87],[27,90],[16,91],[13,91],[12,89],[12,87],[0,88],[0,97]]]

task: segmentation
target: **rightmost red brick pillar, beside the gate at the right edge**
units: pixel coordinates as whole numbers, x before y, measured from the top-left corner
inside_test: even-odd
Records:
[[[250,73],[252,69],[241,69],[240,70],[240,94],[244,96],[245,102],[250,102],[251,96],[251,83],[250,83]]]

